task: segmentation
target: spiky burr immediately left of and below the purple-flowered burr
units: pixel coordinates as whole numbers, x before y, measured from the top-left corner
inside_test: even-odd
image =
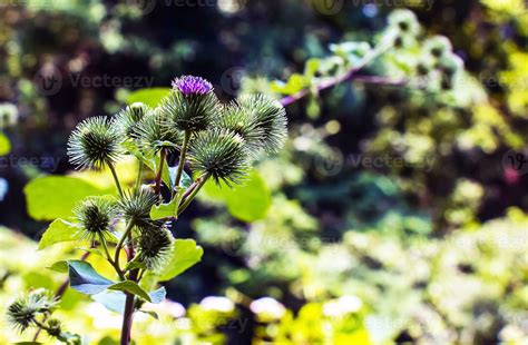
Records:
[[[139,148],[149,154],[162,148],[173,149],[182,141],[182,132],[172,126],[169,117],[159,108],[149,111],[138,122],[136,132]]]

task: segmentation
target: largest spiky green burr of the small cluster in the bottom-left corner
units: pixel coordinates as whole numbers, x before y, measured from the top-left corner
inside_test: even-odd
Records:
[[[18,297],[7,308],[7,319],[20,333],[31,327],[39,315],[50,313],[57,302],[45,289]]]

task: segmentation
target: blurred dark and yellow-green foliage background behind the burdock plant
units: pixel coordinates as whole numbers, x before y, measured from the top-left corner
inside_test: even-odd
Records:
[[[111,184],[72,174],[66,142],[77,122],[179,75],[209,79],[226,101],[254,91],[281,99],[313,86],[323,63],[353,66],[362,46],[351,42],[374,45],[398,8],[417,14],[421,38],[449,38],[465,62],[460,81],[434,90],[369,78],[413,81],[420,39],[375,59],[363,79],[289,105],[286,149],[257,164],[244,189],[251,203],[205,194],[178,219],[175,236],[195,238],[205,255],[166,284],[170,302],[151,306],[160,319],[136,317],[134,336],[527,344],[522,0],[1,0],[2,308],[21,290],[55,290],[65,276],[45,267],[79,256],[68,246],[36,252],[61,211],[47,207],[76,193],[31,196],[28,184],[43,175]],[[61,307],[88,344],[116,344],[118,314],[75,292]],[[0,343],[13,334],[1,318]]]

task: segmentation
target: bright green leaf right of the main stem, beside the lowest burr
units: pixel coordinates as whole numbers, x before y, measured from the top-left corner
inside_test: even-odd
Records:
[[[173,254],[170,263],[166,266],[164,273],[159,275],[159,282],[170,280],[196,263],[199,263],[204,249],[197,246],[193,239],[176,239]]]

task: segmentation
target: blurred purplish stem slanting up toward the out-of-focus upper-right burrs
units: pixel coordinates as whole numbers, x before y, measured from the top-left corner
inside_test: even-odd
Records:
[[[385,36],[384,39],[371,51],[369,51],[361,60],[359,63],[356,63],[354,67],[349,69],[345,73],[341,76],[335,76],[335,77],[330,77],[322,79],[319,83],[316,83],[313,87],[302,89],[293,95],[283,97],[280,102],[282,106],[286,107],[290,106],[291,103],[296,102],[297,100],[304,98],[305,96],[310,95],[310,92],[315,89],[315,91],[319,93],[323,90],[333,88],[342,82],[352,80],[355,78],[355,73],[363,69],[366,65],[372,62],[375,58],[381,56],[383,52],[389,50],[394,43],[394,38],[392,34]]]

